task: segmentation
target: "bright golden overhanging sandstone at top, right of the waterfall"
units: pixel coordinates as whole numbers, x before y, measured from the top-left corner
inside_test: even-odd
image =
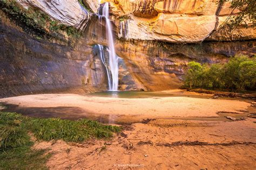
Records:
[[[252,23],[232,33],[220,25],[231,14],[230,3],[217,0],[114,0],[113,19],[119,38],[201,42],[204,40],[248,40],[256,38]],[[233,11],[235,15],[238,11]]]

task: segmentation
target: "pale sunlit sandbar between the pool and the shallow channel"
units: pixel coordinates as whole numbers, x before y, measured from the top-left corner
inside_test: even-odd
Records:
[[[111,98],[76,94],[39,94],[2,98],[0,102],[23,108],[76,107],[74,115],[112,115],[143,118],[219,117],[217,112],[242,113],[251,103],[198,97]],[[83,111],[81,111],[84,110]],[[72,117],[72,113],[69,113]],[[60,115],[61,116],[61,115]]]

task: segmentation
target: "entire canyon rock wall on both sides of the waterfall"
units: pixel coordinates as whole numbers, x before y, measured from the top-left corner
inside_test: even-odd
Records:
[[[95,1],[86,2],[93,12],[98,10]],[[107,60],[104,18],[75,0],[19,3],[77,27],[83,36],[72,41],[38,38],[0,10],[0,97],[107,90],[106,70],[97,48],[97,44],[104,45]],[[113,1],[110,9],[120,57],[119,89],[175,89],[181,86],[190,61],[224,63],[235,54],[255,55],[252,27],[239,27],[234,34],[218,29],[230,13],[227,6],[208,0]]]

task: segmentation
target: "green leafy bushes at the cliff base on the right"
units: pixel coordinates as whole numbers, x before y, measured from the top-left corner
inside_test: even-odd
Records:
[[[256,57],[237,55],[225,64],[211,66],[189,62],[184,86],[190,89],[256,90]]]

